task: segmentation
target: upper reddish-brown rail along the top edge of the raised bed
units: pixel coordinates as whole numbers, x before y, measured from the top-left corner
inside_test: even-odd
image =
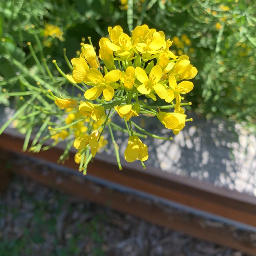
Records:
[[[0,136],[0,147],[3,150],[22,153],[53,163],[57,162],[62,153],[59,148],[51,148],[37,154],[22,152],[22,145],[21,138],[8,134]],[[65,162],[65,167],[77,170],[73,156],[74,154],[71,153],[70,159]],[[256,198],[253,196],[218,188],[188,177],[164,173],[151,167],[146,170],[125,167],[119,171],[114,163],[102,159],[95,159],[90,163],[87,173],[187,207],[256,227]]]

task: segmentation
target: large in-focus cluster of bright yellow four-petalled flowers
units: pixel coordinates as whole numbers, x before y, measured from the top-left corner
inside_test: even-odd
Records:
[[[124,119],[129,134],[125,159],[128,162],[138,159],[143,164],[148,158],[147,146],[133,132],[133,126],[154,138],[159,136],[146,132],[134,124],[131,118],[145,114],[157,116],[166,128],[178,134],[185,122],[191,120],[186,119],[181,107],[190,103],[181,101],[183,95],[193,89],[193,83],[187,80],[196,76],[197,69],[190,64],[188,56],[176,56],[170,50],[172,41],[166,39],[162,31],[142,25],[137,26],[131,36],[124,33],[120,26],[109,27],[108,32],[109,37],[99,41],[98,55],[89,39],[89,44],[81,43],[80,56],[71,60],[72,75],[67,74],[66,78],[74,85],[82,85],[79,88],[84,90],[85,99],[78,108],[77,102],[72,99],[56,97],[55,103],[60,109],[72,108],[77,111],[68,115],[67,124],[71,124],[71,116],[73,120],[82,118],[83,123],[87,122],[85,120],[93,124],[100,122],[99,126],[86,129],[81,122],[74,125],[77,127],[73,127],[74,147],[79,150],[79,156],[88,148],[91,156],[95,156],[106,125],[118,151],[112,133],[112,128],[116,126],[110,121],[110,117],[117,113]],[[155,106],[145,104],[145,98],[155,101]],[[167,102],[174,112],[160,111],[159,102],[162,101]]]

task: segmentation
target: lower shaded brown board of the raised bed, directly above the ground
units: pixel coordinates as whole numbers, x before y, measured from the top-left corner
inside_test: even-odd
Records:
[[[12,170],[18,174],[25,175],[41,184],[54,189],[63,190],[82,199],[90,200],[112,209],[129,213],[145,219],[146,221],[182,231],[185,234],[206,241],[221,244],[245,253],[256,255],[256,247],[248,245],[246,241],[239,241],[232,233],[218,227],[202,226],[197,220],[190,220],[182,216],[172,216],[155,204],[136,201],[125,193],[110,190],[107,187],[95,185],[91,181],[73,177],[58,176],[60,171],[49,172],[47,175],[38,170],[27,170],[25,167],[12,166]]]

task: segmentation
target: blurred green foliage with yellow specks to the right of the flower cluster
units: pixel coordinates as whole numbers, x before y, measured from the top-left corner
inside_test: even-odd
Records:
[[[163,30],[198,68],[187,97],[208,118],[256,125],[256,3],[220,0],[121,1],[128,24]],[[129,16],[129,12],[133,16]],[[178,40],[177,40],[178,39]]]

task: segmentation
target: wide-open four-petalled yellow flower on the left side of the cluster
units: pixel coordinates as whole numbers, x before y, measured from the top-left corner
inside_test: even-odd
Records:
[[[120,79],[120,70],[111,70],[104,77],[99,70],[91,68],[87,71],[87,83],[93,83],[93,88],[90,88],[84,93],[87,100],[97,99],[103,92],[106,101],[110,101],[114,96],[114,88],[119,84],[115,83]]]

